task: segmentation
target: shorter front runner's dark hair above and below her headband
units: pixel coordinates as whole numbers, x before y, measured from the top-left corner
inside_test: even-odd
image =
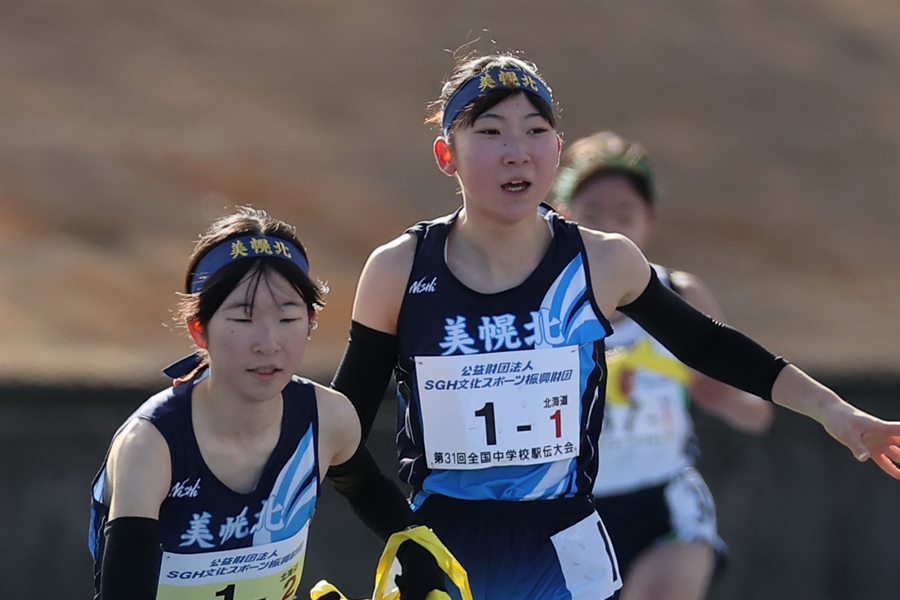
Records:
[[[247,235],[281,238],[296,246],[306,257],[306,249],[297,239],[293,225],[270,216],[264,210],[241,206],[237,212],[216,219],[194,247],[185,276],[185,293],[182,294],[176,313],[179,320],[197,320],[205,328],[228,295],[248,279],[250,287],[247,290],[247,305],[252,314],[259,286],[265,282],[268,287],[272,273],[283,276],[297,290],[309,307],[310,320],[313,320],[315,313],[325,305],[322,296],[327,290],[313,281],[299,266],[282,258],[264,256],[232,262],[210,277],[200,292],[190,293],[191,278],[200,259],[222,243]]]

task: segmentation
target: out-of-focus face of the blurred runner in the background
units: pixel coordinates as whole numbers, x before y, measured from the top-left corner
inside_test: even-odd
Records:
[[[621,175],[589,182],[569,201],[566,214],[590,229],[621,233],[639,248],[650,241],[656,224],[656,212]]]

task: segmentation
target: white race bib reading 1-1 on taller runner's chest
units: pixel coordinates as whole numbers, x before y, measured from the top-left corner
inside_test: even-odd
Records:
[[[578,347],[416,357],[432,469],[536,465],[578,455]]]

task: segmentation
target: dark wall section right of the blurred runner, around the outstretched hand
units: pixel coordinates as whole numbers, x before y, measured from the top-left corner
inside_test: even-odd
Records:
[[[825,379],[859,408],[900,420],[895,378]],[[760,438],[702,415],[697,430],[730,548],[709,600],[900,597],[900,482],[783,408]]]

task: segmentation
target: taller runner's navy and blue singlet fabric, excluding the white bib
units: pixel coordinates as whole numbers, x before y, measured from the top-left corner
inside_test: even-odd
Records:
[[[603,338],[611,328],[593,299],[577,227],[545,207],[541,211],[553,233],[547,252],[522,284],[495,294],[473,291],[447,267],[447,234],[458,213],[410,230],[419,245],[398,320],[398,448],[401,478],[422,492],[417,503],[428,494],[535,500],[590,492],[603,415]],[[490,333],[501,322],[503,335]],[[475,470],[427,468],[414,357],[562,346],[579,347],[581,452],[576,458]]]

